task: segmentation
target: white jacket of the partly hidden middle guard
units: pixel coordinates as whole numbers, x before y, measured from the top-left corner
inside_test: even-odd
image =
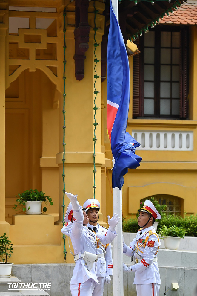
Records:
[[[93,225],[88,224],[88,227],[91,227],[93,229]],[[97,236],[103,236],[107,232],[107,228],[101,226],[100,224],[96,225],[97,229]],[[103,251],[105,250],[105,252]],[[112,248],[111,244],[107,246],[107,248],[104,248],[99,244],[98,248],[98,254],[105,253],[105,257],[98,258],[98,261],[96,263],[97,265],[97,276],[98,277],[106,277],[106,275],[112,275],[113,274],[113,259],[112,259]]]

